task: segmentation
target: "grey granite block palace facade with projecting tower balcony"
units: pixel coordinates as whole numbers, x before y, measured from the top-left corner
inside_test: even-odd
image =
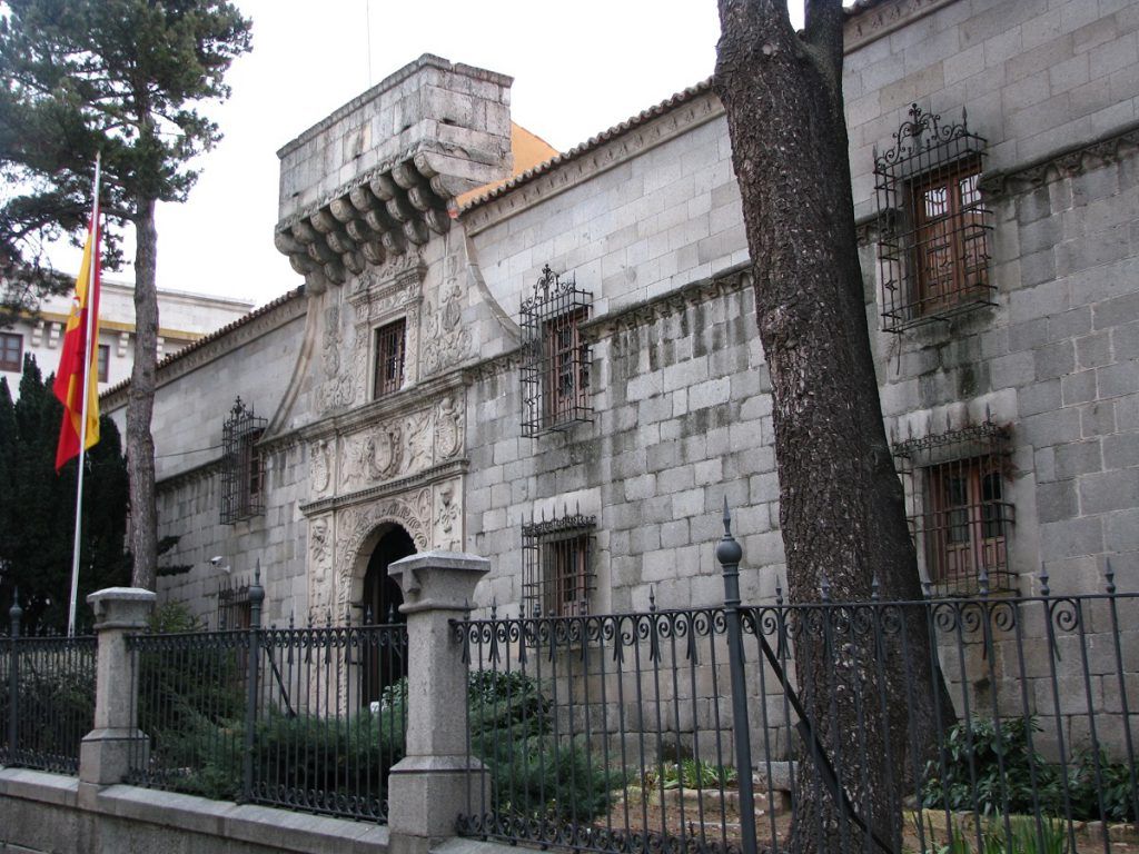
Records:
[[[934,592],[1139,574],[1137,33],[1126,0],[849,13],[867,322]],[[718,98],[521,169],[510,83],[424,56],[279,151],[304,284],[159,370],[162,597],[240,619],[260,564],[270,622],[379,619],[386,565],[448,549],[500,614],[713,605],[724,499],[745,601],[773,593]]]

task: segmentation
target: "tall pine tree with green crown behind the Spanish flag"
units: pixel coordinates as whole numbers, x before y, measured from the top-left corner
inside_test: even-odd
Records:
[[[133,583],[154,589],[154,408],[158,202],[185,200],[188,163],[219,139],[195,110],[223,99],[223,75],[249,48],[249,22],[222,0],[6,0],[0,11],[0,272],[36,276],[40,247],[85,227],[96,154],[103,210],[117,238],[133,227],[134,368],[126,414]],[[14,189],[15,188],[15,189]],[[42,278],[42,277],[41,277]]]

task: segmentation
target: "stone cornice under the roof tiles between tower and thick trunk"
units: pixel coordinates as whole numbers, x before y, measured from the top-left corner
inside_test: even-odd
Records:
[[[622,163],[722,115],[723,106],[711,91],[685,100],[681,106],[663,113],[636,130],[617,133],[606,145],[568,158],[564,164],[538,178],[509,188],[509,191],[503,192],[503,195],[465,211],[462,224],[467,236],[474,237],[480,231],[590,181],[603,172],[620,166]],[[614,129],[614,132],[616,130]]]

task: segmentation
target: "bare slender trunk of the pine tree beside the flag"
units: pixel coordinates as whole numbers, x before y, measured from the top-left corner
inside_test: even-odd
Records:
[[[154,199],[140,199],[134,228],[134,368],[126,407],[126,470],[131,484],[131,584],[154,590],[158,563],[158,517],[154,494],[150,417],[158,367],[158,232]]]

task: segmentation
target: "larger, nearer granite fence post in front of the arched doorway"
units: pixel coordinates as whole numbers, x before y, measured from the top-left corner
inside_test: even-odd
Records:
[[[490,791],[483,764],[467,755],[467,665],[452,619],[470,609],[490,561],[475,555],[428,551],[393,563],[408,619],[407,755],[388,778],[392,854],[426,854],[454,836],[461,810],[483,811],[470,795]]]

